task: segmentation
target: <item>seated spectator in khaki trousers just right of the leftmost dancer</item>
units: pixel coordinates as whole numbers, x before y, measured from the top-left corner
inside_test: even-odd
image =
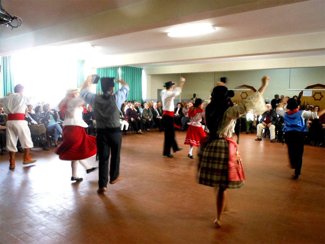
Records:
[[[30,107],[30,106],[28,106],[28,107]],[[47,140],[46,140],[46,135],[45,135],[45,132],[46,132],[45,125],[43,125],[42,122],[39,121],[39,119],[37,118],[37,116],[35,114],[32,114],[27,109],[25,112],[25,120],[28,123],[28,128],[31,131],[31,134],[39,137],[41,140],[43,150],[48,151],[49,149],[47,147]]]

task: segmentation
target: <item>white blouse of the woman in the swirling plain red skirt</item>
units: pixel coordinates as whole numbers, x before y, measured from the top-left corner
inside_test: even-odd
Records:
[[[63,125],[74,125],[87,128],[88,125],[82,119],[82,112],[84,109],[80,106],[83,103],[81,97],[72,98],[69,102],[67,108],[64,110],[65,115],[67,116],[63,122]]]

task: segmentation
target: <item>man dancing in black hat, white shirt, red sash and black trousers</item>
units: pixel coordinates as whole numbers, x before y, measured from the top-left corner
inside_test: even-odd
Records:
[[[175,83],[168,81],[165,83],[164,87],[166,90],[160,92],[162,98],[162,108],[163,108],[163,122],[165,126],[165,141],[163,156],[174,157],[170,154],[170,148],[173,147],[174,152],[182,150],[177,146],[175,141],[174,133],[174,98],[182,92],[185,79],[183,77],[179,80],[179,87],[174,89]]]

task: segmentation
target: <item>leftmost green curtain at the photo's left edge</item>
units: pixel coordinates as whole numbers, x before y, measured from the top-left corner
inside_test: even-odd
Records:
[[[14,92],[14,73],[12,71],[12,56],[1,57],[1,74],[2,74],[2,96],[8,92]]]

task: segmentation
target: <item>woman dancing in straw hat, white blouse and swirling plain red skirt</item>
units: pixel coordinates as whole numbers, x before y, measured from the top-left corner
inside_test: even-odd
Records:
[[[87,174],[95,170],[83,159],[94,156],[97,153],[96,137],[86,134],[88,125],[82,119],[84,111],[83,99],[78,97],[77,88],[67,90],[65,98],[59,103],[59,108],[66,114],[63,123],[63,142],[56,154],[61,160],[71,160],[72,181],[81,181],[77,175],[78,161],[85,167]],[[85,111],[84,111],[85,112]]]

